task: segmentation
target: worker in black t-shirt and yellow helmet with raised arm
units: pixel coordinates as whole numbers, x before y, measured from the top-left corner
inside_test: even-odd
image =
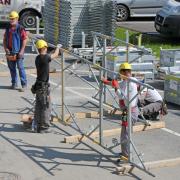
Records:
[[[40,133],[50,126],[50,85],[49,85],[49,63],[59,56],[58,45],[55,51],[47,54],[48,44],[40,39],[36,42],[39,55],[35,59],[37,69],[37,79],[31,90],[36,94],[36,104],[34,113],[35,131]]]

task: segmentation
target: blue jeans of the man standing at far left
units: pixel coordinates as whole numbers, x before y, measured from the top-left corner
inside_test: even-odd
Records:
[[[21,81],[21,86],[26,86],[27,85],[26,72],[25,72],[25,69],[24,69],[23,61],[24,61],[24,58],[17,59],[16,61],[7,60],[8,67],[9,67],[10,74],[11,74],[11,83],[14,86],[17,86],[17,84],[18,84],[16,66],[17,66],[18,71],[19,71],[19,77],[20,77],[20,81]]]

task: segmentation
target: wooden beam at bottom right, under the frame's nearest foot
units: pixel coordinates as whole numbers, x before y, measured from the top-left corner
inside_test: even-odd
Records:
[[[138,164],[138,165],[140,166],[140,164]],[[178,166],[178,165],[180,165],[180,157],[174,158],[174,159],[145,162],[144,165],[146,166],[147,170]],[[136,170],[138,170],[138,168],[133,167],[130,164],[123,164],[119,167],[116,167],[116,173],[118,173],[118,174],[129,173],[129,172],[136,171]]]

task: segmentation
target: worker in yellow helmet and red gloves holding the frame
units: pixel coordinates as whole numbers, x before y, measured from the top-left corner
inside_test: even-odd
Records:
[[[128,137],[128,122],[127,122],[127,108],[128,108],[128,94],[130,97],[130,100],[132,98],[133,101],[131,102],[131,121],[132,124],[134,125],[138,119],[138,115],[139,115],[139,110],[138,110],[138,98],[137,98],[137,84],[134,82],[129,81],[128,79],[134,79],[137,81],[136,78],[132,77],[131,74],[131,65],[127,62],[122,63],[120,65],[120,75],[122,76],[122,81],[118,82],[117,80],[113,80],[112,82],[108,82],[106,79],[102,79],[103,82],[105,84],[109,84],[112,85],[113,88],[115,88],[116,94],[119,97],[119,106],[120,109],[123,111],[123,116],[122,116],[122,129],[121,129],[121,137],[120,137],[120,141],[121,141],[121,153],[120,153],[120,159],[118,161],[121,160],[128,160],[128,141],[129,141],[129,137]],[[129,92],[128,92],[128,81],[129,83]]]

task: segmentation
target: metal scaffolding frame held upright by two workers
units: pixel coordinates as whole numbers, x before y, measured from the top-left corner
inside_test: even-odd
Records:
[[[127,35],[128,35],[128,32],[127,32]],[[77,54],[75,54],[75,53],[73,53],[73,52],[71,52],[71,51],[69,51],[69,50],[60,48],[60,52],[61,52],[61,63],[58,62],[58,61],[56,61],[59,65],[61,65],[61,96],[62,96],[62,99],[61,99],[61,109],[60,109],[60,111],[61,111],[60,120],[66,124],[66,119],[65,119],[65,110],[66,110],[66,111],[69,113],[70,117],[72,118],[72,120],[73,120],[73,122],[74,122],[74,124],[75,124],[76,127],[74,127],[74,126],[71,125],[71,124],[66,124],[66,125],[69,125],[71,128],[73,128],[74,130],[76,130],[77,132],[79,132],[81,135],[87,137],[89,140],[91,140],[92,142],[98,144],[99,146],[101,146],[101,147],[104,148],[105,150],[109,151],[109,152],[112,153],[113,155],[116,155],[116,153],[115,153],[112,149],[113,149],[114,147],[118,146],[118,145],[119,145],[118,143],[116,143],[115,146],[111,146],[111,147],[109,147],[109,148],[107,148],[107,147],[104,145],[104,143],[103,143],[104,105],[106,105],[106,103],[107,103],[107,102],[106,102],[106,86],[103,84],[103,82],[102,82],[101,80],[98,82],[98,80],[95,79],[95,80],[97,81],[97,85],[98,85],[98,87],[97,87],[96,89],[99,88],[99,89],[98,89],[98,93],[99,93],[99,124],[98,124],[93,130],[91,130],[88,134],[84,133],[84,132],[80,129],[80,127],[79,127],[78,124],[77,124],[76,117],[73,115],[73,113],[70,111],[70,109],[69,109],[68,106],[66,105],[66,101],[65,101],[65,71],[66,71],[66,70],[70,70],[69,67],[70,67],[70,66],[73,66],[74,63],[71,64],[71,65],[69,65],[69,66],[65,66],[65,53],[67,53],[67,54],[69,54],[69,55],[77,58],[77,61],[81,61],[81,62],[83,62],[83,63],[88,64],[88,66],[90,67],[90,71],[92,72],[92,75],[94,75],[94,76],[95,76],[95,74],[93,73],[92,66],[95,67],[96,69],[98,69],[98,70],[99,70],[99,77],[100,77],[100,79],[101,79],[103,76],[106,76],[106,75],[107,75],[107,72],[110,72],[110,73],[113,73],[113,74],[115,74],[115,75],[118,75],[118,76],[121,77],[121,78],[126,78],[126,80],[127,80],[127,87],[128,87],[128,88],[127,88],[127,89],[128,89],[128,94],[129,94],[129,84],[130,84],[131,82],[136,83],[136,84],[138,84],[138,85],[141,85],[141,86],[144,87],[144,88],[149,88],[149,89],[154,89],[154,88],[151,87],[151,86],[148,85],[148,84],[145,84],[145,83],[136,81],[136,80],[134,80],[134,79],[125,77],[125,76],[123,76],[123,75],[121,75],[121,74],[119,74],[119,73],[117,73],[117,72],[113,72],[113,71],[111,71],[111,70],[109,70],[109,69],[106,68],[106,56],[107,56],[109,53],[111,53],[111,51],[106,52],[107,40],[113,40],[113,41],[116,40],[116,41],[118,41],[118,42],[120,42],[120,43],[125,43],[125,44],[126,44],[126,47],[127,47],[127,61],[128,61],[129,47],[130,47],[130,46],[136,47],[136,48],[142,50],[143,52],[147,53],[147,50],[146,50],[146,49],[144,49],[144,48],[139,48],[139,47],[137,47],[137,46],[135,46],[135,45],[130,44],[130,43],[128,42],[128,38],[127,38],[127,41],[124,42],[124,41],[122,41],[122,40],[119,40],[119,39],[116,39],[116,38],[113,38],[113,37],[110,37],[110,36],[106,36],[106,35],[103,35],[103,34],[101,34],[101,33],[93,32],[93,38],[94,38],[94,40],[97,40],[97,36],[99,36],[100,38],[103,39],[103,48],[102,48],[102,49],[103,49],[103,50],[102,50],[102,52],[103,52],[103,63],[102,63],[102,66],[96,64],[96,62],[95,62],[94,60],[93,60],[93,62],[91,62],[91,61],[89,61],[89,60],[87,60],[87,59],[85,59],[85,58],[82,58],[82,57],[78,56]],[[33,42],[34,42],[35,40],[37,40],[37,37],[32,36],[32,35],[30,36],[30,38],[31,38],[31,40],[32,40]],[[33,43],[33,44],[34,44],[34,43]],[[93,44],[95,45],[96,43],[94,42]],[[50,44],[50,43],[48,43],[48,45],[49,45],[50,47],[52,47],[52,48],[55,48],[55,47],[56,47],[55,45]],[[95,46],[94,46],[94,50],[95,50],[95,49],[97,49],[97,47],[95,48]],[[93,58],[96,58],[95,52],[96,52],[96,50],[94,51]],[[149,52],[148,52],[148,53],[149,53]],[[76,61],[76,62],[77,62],[77,61]],[[79,77],[75,72],[72,72],[72,70],[71,70],[71,73],[73,73],[74,75],[76,75],[77,77]],[[79,77],[79,78],[82,79],[81,77]],[[85,82],[86,82],[86,81],[85,81]],[[87,82],[86,82],[86,83],[87,83]],[[88,82],[87,84],[91,85],[89,82]],[[94,86],[92,86],[92,87],[94,87]],[[95,87],[94,87],[94,88],[95,88]],[[137,94],[136,96],[138,96],[138,94]],[[134,98],[136,98],[136,96],[133,97],[132,99],[130,99],[130,96],[127,97],[127,103],[128,103],[128,111],[127,111],[127,112],[128,112],[128,113],[127,113],[127,114],[128,114],[128,117],[127,117],[127,119],[128,119],[128,129],[129,129],[129,131],[128,131],[128,137],[129,137],[129,140],[128,140],[128,147],[129,147],[128,163],[131,164],[132,166],[137,167],[138,169],[144,171],[145,173],[147,173],[147,174],[155,177],[151,172],[149,172],[149,171],[146,169],[146,167],[145,167],[145,165],[144,165],[144,162],[143,162],[141,156],[138,154],[138,151],[137,151],[137,149],[136,149],[136,147],[135,147],[135,145],[134,145],[134,143],[133,143],[133,140],[132,140],[131,103],[132,103],[132,101],[134,100]],[[143,123],[146,124],[146,122],[143,122]],[[95,141],[93,138],[90,137],[90,135],[91,135],[94,131],[96,131],[97,129],[99,129],[99,142]],[[137,155],[137,157],[138,157],[138,159],[139,159],[142,167],[139,166],[138,164],[136,164],[136,163],[134,162],[134,153],[133,153],[133,150],[134,150],[135,154]]]

